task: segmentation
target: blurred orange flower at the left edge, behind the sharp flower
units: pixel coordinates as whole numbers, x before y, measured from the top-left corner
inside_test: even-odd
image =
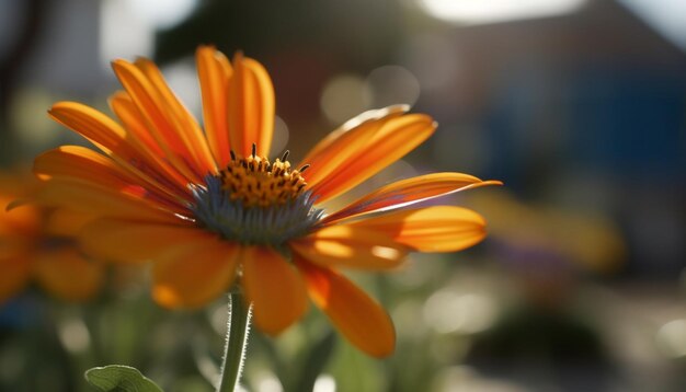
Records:
[[[103,266],[85,260],[73,240],[87,219],[64,209],[4,209],[35,186],[35,181],[0,174],[0,305],[32,280],[62,300],[87,300],[104,277]]]

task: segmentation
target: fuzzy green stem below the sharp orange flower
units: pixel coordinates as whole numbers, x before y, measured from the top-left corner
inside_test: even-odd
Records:
[[[243,295],[239,290],[233,290],[229,295],[229,324],[217,392],[233,392],[236,390],[243,370],[249,326],[250,307],[243,301]]]

